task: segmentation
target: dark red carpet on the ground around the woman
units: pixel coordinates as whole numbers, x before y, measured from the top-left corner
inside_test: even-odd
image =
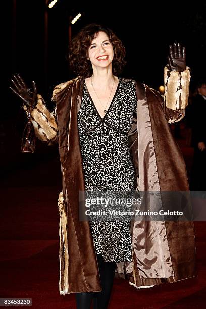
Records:
[[[178,143],[189,169],[192,148],[184,145],[184,139]],[[74,294],[59,294],[58,152],[37,143],[34,154],[13,153],[4,159],[3,171],[7,173],[1,186],[0,297],[32,298],[32,308],[76,308]],[[206,224],[194,224],[198,276],[149,289],[136,289],[123,279],[115,279],[110,308],[205,307]]]

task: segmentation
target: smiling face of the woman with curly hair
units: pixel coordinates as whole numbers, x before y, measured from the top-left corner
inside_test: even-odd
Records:
[[[112,63],[113,57],[113,45],[109,41],[109,37],[105,32],[99,31],[97,37],[92,40],[88,48],[87,59],[91,61],[92,67],[104,68]]]

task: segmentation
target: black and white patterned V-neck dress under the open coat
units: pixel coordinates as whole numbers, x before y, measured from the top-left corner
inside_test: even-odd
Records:
[[[134,189],[127,133],[135,107],[135,82],[119,78],[112,103],[101,118],[84,83],[78,129],[86,191]],[[132,261],[129,221],[91,221],[90,227],[95,252],[105,262]]]

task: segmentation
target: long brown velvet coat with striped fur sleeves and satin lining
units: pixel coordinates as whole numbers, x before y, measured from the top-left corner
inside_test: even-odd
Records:
[[[185,162],[169,127],[185,115],[189,80],[189,68],[184,72],[165,68],[164,99],[159,92],[135,81],[137,109],[128,145],[139,191],[189,190]],[[47,143],[59,143],[59,291],[63,295],[101,291],[89,222],[79,221],[79,191],[84,191],[85,185],[77,113],[83,85],[84,78],[78,76],[55,87],[53,113],[38,95],[38,104],[32,111],[36,136]],[[164,208],[164,200],[162,204]],[[135,221],[130,226],[133,261],[116,263],[115,277],[142,288],[196,276],[193,222]]]

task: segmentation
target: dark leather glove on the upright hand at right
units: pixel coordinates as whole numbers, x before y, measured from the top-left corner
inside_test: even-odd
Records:
[[[170,45],[167,67],[171,71],[186,70],[185,47],[182,47],[180,43]]]

